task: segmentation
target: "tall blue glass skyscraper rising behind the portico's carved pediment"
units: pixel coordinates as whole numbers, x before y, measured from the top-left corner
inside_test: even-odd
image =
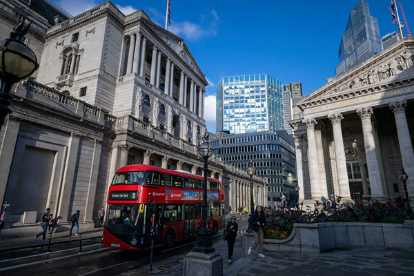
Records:
[[[369,14],[368,3],[361,0],[351,10],[339,45],[336,75],[354,68],[382,51],[380,30],[375,17]]]

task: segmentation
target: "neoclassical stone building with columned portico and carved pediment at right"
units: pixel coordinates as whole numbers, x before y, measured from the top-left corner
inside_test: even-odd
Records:
[[[414,199],[414,39],[402,39],[297,103],[299,198]]]

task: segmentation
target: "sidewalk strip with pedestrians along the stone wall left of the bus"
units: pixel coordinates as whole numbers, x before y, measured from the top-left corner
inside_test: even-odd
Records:
[[[39,232],[41,228],[39,227]],[[85,231],[79,231],[82,235],[82,240],[84,239],[94,239],[102,236],[103,228],[95,228]],[[69,236],[69,231],[53,233],[51,244],[63,244],[66,242],[71,242],[73,240],[78,240],[80,236]],[[46,234],[46,240],[42,240],[42,237],[39,237],[34,240],[34,235],[30,237],[1,237],[0,235],[0,253],[10,250],[17,250],[23,248],[34,248],[40,246],[47,246],[49,242],[49,234]]]

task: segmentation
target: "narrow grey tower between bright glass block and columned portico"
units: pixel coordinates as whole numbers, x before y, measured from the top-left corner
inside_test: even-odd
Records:
[[[288,121],[293,119],[293,106],[302,99],[302,83],[293,82],[284,86],[283,92],[283,110],[284,110],[284,125],[288,134],[293,134]]]

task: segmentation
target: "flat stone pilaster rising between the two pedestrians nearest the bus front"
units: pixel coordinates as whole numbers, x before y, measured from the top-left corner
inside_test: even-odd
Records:
[[[92,221],[95,195],[97,192],[99,163],[101,161],[102,141],[95,139],[95,148],[92,155],[92,166],[90,168],[88,197],[86,198],[86,210],[83,214],[83,222]]]

